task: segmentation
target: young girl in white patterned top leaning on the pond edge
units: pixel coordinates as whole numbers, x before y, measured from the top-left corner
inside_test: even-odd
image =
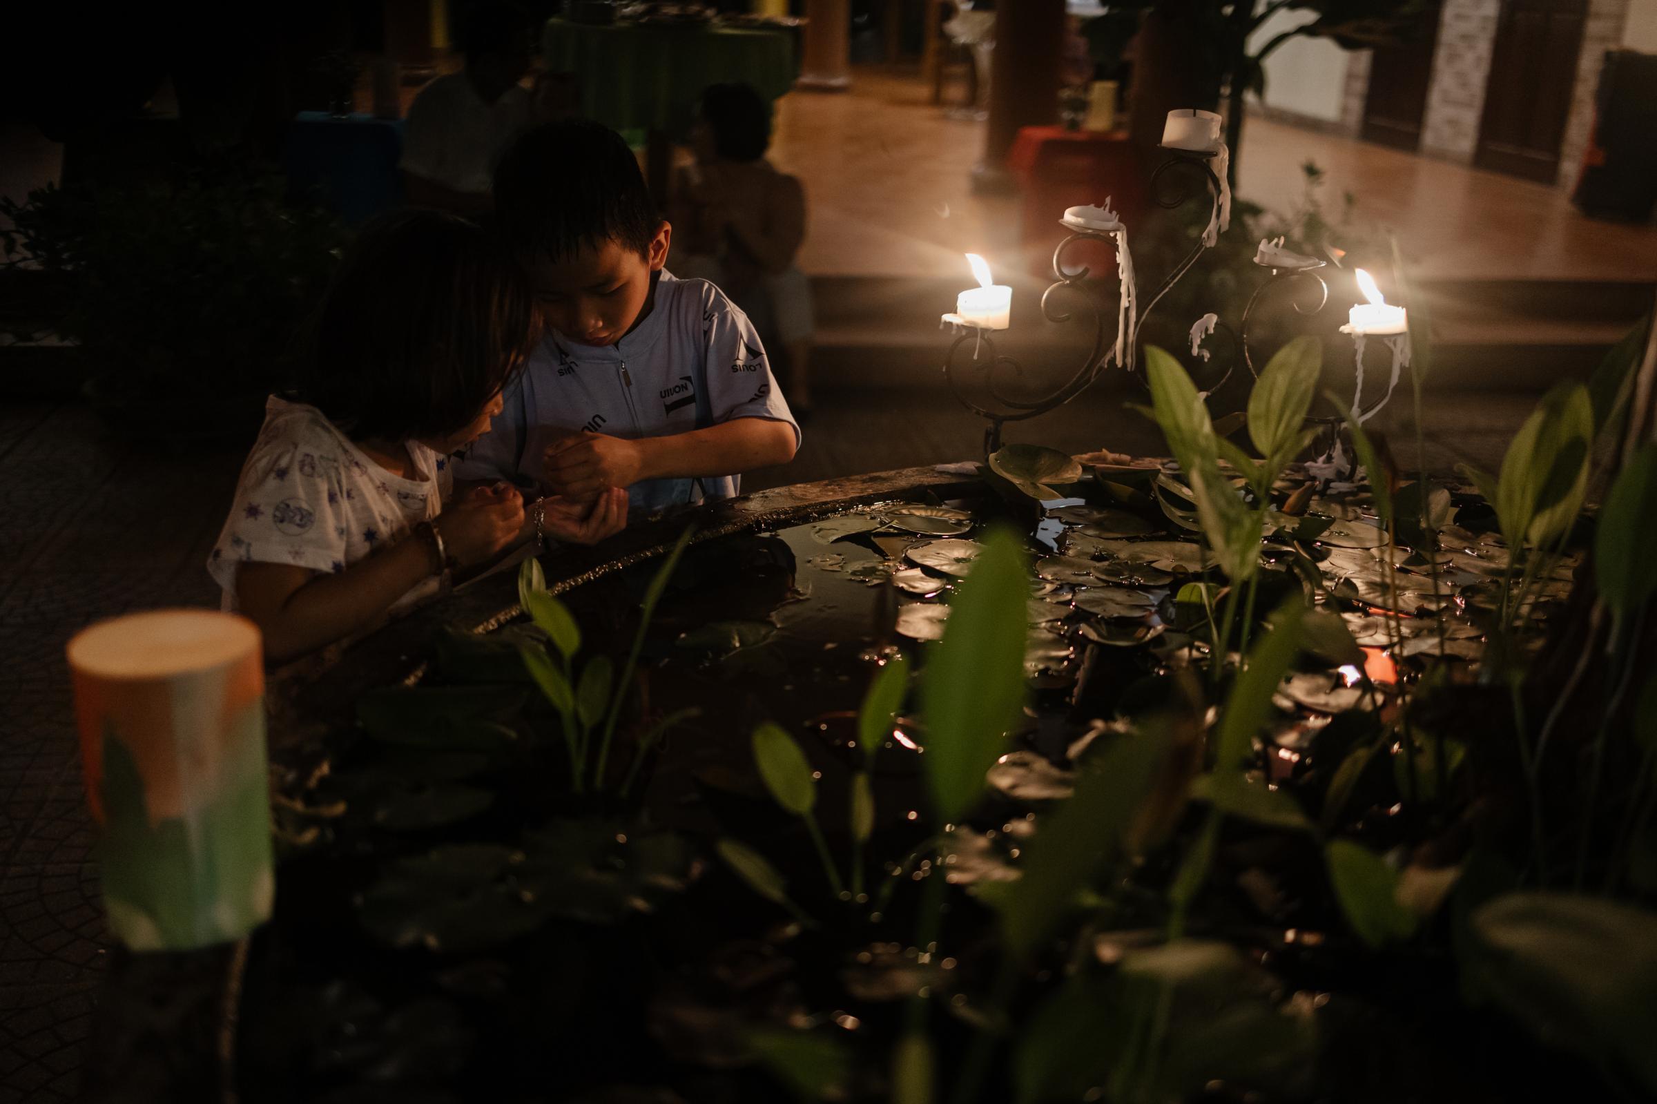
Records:
[[[487,235],[408,211],[365,227],[323,303],[300,401],[270,396],[207,570],[272,663],[358,637],[520,534],[592,544],[626,492],[590,509],[514,487],[457,502],[447,458],[489,431],[537,340],[534,293]]]

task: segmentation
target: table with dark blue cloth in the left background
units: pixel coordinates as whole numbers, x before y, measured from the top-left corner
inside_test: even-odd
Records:
[[[282,167],[288,192],[320,191],[330,211],[356,225],[403,204],[403,119],[302,111],[288,128]]]

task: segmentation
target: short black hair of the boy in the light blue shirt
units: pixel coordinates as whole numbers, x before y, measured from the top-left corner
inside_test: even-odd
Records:
[[[650,255],[661,227],[638,159],[620,134],[590,119],[543,123],[495,166],[495,224],[522,260],[562,260],[616,240]]]

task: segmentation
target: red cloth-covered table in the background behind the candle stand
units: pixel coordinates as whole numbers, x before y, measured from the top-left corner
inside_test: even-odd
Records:
[[[1148,182],[1125,131],[1067,131],[1062,126],[1026,126],[1007,153],[1007,169],[1024,191],[1024,252],[1031,272],[1052,278],[1052,250],[1069,234],[1059,219],[1065,207],[1110,206],[1132,229],[1148,204]],[[1092,275],[1115,275],[1115,250],[1084,242],[1065,255],[1069,267],[1087,265]]]

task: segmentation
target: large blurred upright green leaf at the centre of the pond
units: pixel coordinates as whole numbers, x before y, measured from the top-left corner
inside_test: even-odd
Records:
[[[949,623],[926,661],[926,782],[940,822],[958,821],[1024,709],[1029,564],[1022,540],[996,527],[949,603]]]

